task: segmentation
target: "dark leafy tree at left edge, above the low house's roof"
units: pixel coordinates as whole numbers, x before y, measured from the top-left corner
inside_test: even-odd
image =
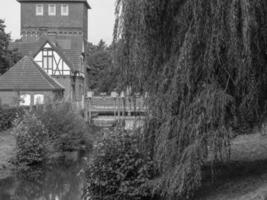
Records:
[[[12,67],[21,56],[16,50],[9,50],[10,35],[5,32],[5,24],[0,19],[0,75]]]

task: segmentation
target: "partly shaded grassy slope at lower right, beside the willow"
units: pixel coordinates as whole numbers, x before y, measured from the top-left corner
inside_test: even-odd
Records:
[[[217,167],[195,200],[267,200],[267,135],[236,137],[230,161]]]

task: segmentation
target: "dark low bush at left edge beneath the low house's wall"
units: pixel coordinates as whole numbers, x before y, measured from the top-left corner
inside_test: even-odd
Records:
[[[23,108],[1,108],[0,107],[0,132],[12,128],[13,122],[22,117]]]

